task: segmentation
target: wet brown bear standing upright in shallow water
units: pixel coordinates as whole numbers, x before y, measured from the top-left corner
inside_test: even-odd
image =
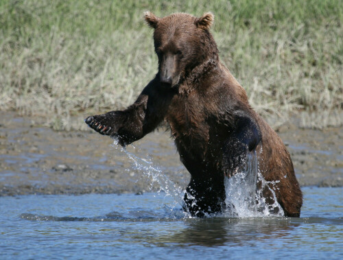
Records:
[[[128,145],[165,121],[191,174],[185,210],[200,217],[222,210],[224,177],[236,174],[256,150],[261,174],[273,183],[285,215],[299,217],[303,198],[289,153],[220,62],[209,32],[213,14],[158,18],[146,12],[145,21],[154,29],[158,73],[134,104],[87,117],[88,126]],[[270,189],[263,189],[263,196],[274,203]]]

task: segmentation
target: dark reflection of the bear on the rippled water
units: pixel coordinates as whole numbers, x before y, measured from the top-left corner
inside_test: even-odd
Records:
[[[244,246],[252,239],[277,239],[298,225],[289,224],[285,219],[209,218],[189,221],[182,231],[171,236],[158,236],[156,241],[165,245]]]

